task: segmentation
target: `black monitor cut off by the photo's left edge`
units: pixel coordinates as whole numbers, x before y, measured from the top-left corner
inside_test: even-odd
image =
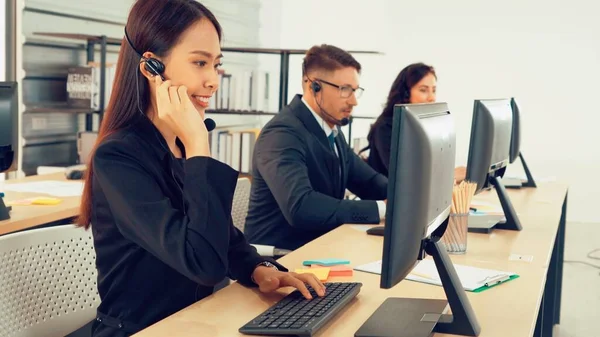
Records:
[[[18,148],[17,82],[0,82],[0,173],[17,169]],[[0,198],[0,220],[9,219]]]

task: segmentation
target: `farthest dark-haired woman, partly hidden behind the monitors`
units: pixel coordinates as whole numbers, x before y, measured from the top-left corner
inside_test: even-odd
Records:
[[[371,126],[367,136],[370,149],[367,162],[373,169],[388,176],[394,105],[433,103],[436,90],[437,75],[432,66],[414,63],[400,71],[392,84],[383,112]],[[465,175],[464,167],[454,170],[456,182],[464,180]]]

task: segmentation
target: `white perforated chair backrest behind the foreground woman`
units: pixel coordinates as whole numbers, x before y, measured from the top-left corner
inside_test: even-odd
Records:
[[[73,225],[0,236],[0,336],[65,336],[96,316],[92,233]]]

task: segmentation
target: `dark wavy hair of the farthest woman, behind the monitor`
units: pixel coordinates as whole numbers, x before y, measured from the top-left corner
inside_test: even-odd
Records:
[[[373,128],[393,116],[394,105],[409,103],[410,90],[429,74],[433,74],[437,78],[435,69],[424,63],[413,63],[400,71],[394,83],[392,83],[392,88],[388,94],[383,112],[379,115],[373,127],[371,127],[371,131],[369,131],[369,136],[367,137],[369,140],[371,139]]]

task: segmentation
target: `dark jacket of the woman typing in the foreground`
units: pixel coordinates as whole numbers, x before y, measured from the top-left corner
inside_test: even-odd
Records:
[[[253,285],[265,259],[233,226],[238,172],[212,158],[176,159],[143,116],[104,139],[92,161],[93,336],[133,334],[212,294],[226,275]]]

